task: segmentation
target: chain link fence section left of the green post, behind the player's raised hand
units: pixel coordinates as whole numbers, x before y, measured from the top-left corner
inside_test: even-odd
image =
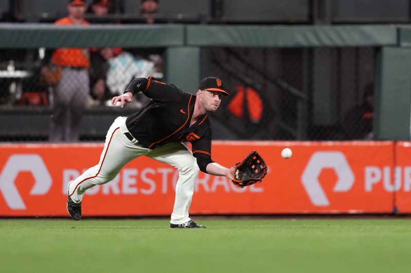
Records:
[[[120,115],[140,109],[138,94],[111,106],[135,77],[163,78],[163,49],[1,50],[0,141],[100,141]],[[55,62],[65,62],[57,66]]]

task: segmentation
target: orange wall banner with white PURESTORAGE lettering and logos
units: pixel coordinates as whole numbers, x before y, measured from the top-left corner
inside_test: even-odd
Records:
[[[281,157],[289,147],[293,155]],[[67,216],[67,183],[98,163],[103,144],[0,145],[0,216]],[[268,174],[249,187],[200,173],[191,214],[411,213],[409,142],[214,141],[233,166],[252,150]],[[178,172],[139,157],[90,188],[84,216],[170,215]]]

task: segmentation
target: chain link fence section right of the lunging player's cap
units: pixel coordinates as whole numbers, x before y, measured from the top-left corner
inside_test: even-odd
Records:
[[[213,117],[237,139],[372,139],[376,49],[207,48],[231,96]]]

